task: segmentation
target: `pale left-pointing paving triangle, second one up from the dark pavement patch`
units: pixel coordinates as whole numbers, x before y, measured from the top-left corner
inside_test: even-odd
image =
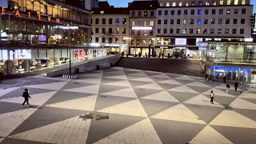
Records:
[[[78,87],[78,88],[74,88],[74,89],[67,89],[64,91],[72,91],[72,92],[88,93],[88,94],[98,94],[99,86],[100,85],[84,86],[84,87]]]

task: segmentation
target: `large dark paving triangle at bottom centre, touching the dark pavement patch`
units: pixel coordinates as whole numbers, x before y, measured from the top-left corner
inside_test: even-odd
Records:
[[[92,120],[86,144],[92,144],[99,140],[117,133],[128,126],[132,126],[137,122],[142,121],[142,117],[134,117],[120,114],[110,114],[109,119]]]

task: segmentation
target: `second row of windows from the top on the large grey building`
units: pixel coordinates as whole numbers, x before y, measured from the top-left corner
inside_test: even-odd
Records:
[[[169,14],[169,10],[158,10],[158,15],[162,15],[162,11],[164,11],[164,15],[168,15]],[[238,14],[238,9],[234,9],[233,13],[234,14]],[[202,14],[202,10],[190,10],[190,14],[194,15],[195,12],[197,12],[198,15]],[[225,14],[230,14],[231,13],[231,9],[226,9]],[[170,15],[174,15],[175,14],[175,10],[170,10]],[[181,15],[182,14],[182,10],[177,10],[177,14]],[[183,10],[183,14],[187,15],[189,14],[189,10]],[[204,14],[209,14],[209,10],[204,10]],[[217,14],[216,9],[212,9],[211,10],[211,14]],[[219,9],[218,10],[218,14],[224,14],[224,10],[223,9]],[[241,14],[246,14],[246,9],[242,9],[241,10]]]

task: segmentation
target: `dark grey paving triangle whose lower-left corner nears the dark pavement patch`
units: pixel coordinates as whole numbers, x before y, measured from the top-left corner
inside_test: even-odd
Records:
[[[122,102],[128,102],[135,98],[126,98],[126,97],[115,97],[110,95],[99,94],[94,110],[101,110],[109,106],[114,106]]]

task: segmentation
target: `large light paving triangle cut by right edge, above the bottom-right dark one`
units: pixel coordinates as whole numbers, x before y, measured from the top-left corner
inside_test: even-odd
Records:
[[[223,110],[221,114],[218,114],[218,116],[214,118],[212,122],[210,122],[210,125],[256,129],[256,122],[254,120],[246,118],[242,114],[238,114],[233,110]]]

